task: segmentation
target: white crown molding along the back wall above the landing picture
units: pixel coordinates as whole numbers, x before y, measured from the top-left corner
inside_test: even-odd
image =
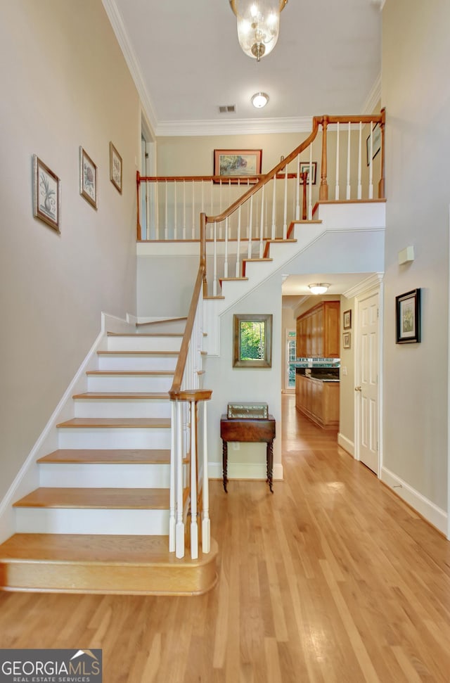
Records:
[[[184,135],[252,135],[263,133],[302,133],[310,132],[312,116],[229,119],[226,121],[160,121],[156,128],[158,136]]]

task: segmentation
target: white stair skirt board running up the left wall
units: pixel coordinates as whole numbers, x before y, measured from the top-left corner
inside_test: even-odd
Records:
[[[13,502],[27,495],[27,493],[30,493],[39,486],[39,468],[37,466],[37,460],[58,448],[56,425],[59,422],[69,420],[74,416],[75,406],[72,401],[72,396],[75,393],[86,391],[86,371],[96,368],[96,352],[105,345],[106,332],[123,332],[129,329],[129,327],[130,324],[126,320],[102,312],[101,331],[98,334],[98,337],[84,358],[84,361],[79,366],[70,385],[65,390],[63,397],[60,399],[51,418],[39,435],[37,442],[32,447],[23,466],[18,471],[18,474],[9,487],[8,492],[6,492],[4,499],[0,502],[0,542],[3,542],[15,532]]]

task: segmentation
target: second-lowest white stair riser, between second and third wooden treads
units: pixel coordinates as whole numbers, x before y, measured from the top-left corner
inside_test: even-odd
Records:
[[[39,483],[58,488],[169,488],[169,464],[41,463]]]

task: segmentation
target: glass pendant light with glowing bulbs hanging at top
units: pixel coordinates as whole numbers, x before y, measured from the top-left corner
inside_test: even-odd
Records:
[[[246,55],[259,60],[278,40],[280,12],[288,0],[229,0],[238,18],[238,40]]]

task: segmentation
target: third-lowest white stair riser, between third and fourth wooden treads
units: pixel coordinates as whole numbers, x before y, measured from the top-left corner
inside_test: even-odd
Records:
[[[167,428],[60,428],[60,448],[170,448]]]

